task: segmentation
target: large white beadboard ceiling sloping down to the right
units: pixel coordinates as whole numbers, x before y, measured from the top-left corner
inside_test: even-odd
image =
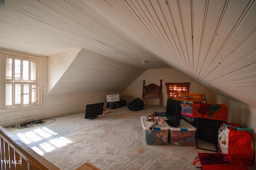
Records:
[[[0,47],[45,56],[81,48],[134,68],[134,76],[174,67],[209,90],[255,107],[255,16],[255,0],[6,0]],[[80,57],[71,65],[80,59],[86,63]]]

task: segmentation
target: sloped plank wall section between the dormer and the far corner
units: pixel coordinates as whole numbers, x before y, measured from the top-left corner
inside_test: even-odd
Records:
[[[49,89],[48,85],[48,90],[49,94],[123,91],[130,85],[129,82],[134,82],[144,71],[145,69],[81,49],[62,76],[57,78],[53,88]],[[49,82],[52,83],[48,81],[48,84]]]

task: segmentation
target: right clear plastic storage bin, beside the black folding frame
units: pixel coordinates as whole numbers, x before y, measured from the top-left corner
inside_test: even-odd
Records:
[[[166,125],[168,125],[166,123]],[[173,146],[194,146],[196,128],[184,120],[180,120],[179,127],[169,127],[168,141]]]

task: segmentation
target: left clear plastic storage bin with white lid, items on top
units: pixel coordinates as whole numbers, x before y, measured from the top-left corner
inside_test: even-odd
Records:
[[[169,127],[164,123],[164,126],[154,126],[152,130],[149,127],[153,124],[152,121],[147,121],[147,117],[140,117],[142,123],[142,132],[146,145],[168,145]]]

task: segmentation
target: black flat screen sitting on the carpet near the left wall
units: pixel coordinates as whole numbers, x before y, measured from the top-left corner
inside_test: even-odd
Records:
[[[95,119],[103,113],[104,103],[88,104],[85,109],[84,119]]]

